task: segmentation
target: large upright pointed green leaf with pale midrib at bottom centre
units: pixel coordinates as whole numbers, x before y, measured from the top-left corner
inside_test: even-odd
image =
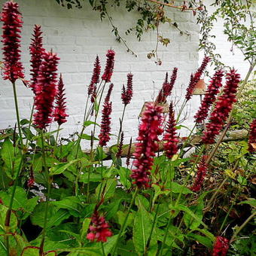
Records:
[[[139,210],[134,218],[133,226],[133,244],[138,254],[143,254],[148,242],[151,231],[151,215],[146,211],[139,197],[138,200]]]

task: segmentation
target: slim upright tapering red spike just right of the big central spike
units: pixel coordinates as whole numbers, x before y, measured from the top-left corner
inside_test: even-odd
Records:
[[[176,121],[172,103],[169,105],[169,120],[166,125],[166,133],[163,136],[163,149],[166,151],[166,157],[171,159],[178,152],[178,136],[176,136]]]

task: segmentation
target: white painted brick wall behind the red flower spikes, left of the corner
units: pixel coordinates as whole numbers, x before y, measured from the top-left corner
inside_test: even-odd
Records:
[[[5,1],[0,0],[2,5]],[[123,105],[120,100],[122,84],[126,83],[126,73],[133,73],[134,96],[132,103],[126,108],[124,130],[126,141],[130,136],[137,136],[138,115],[143,102],[150,101],[155,90],[163,83],[166,71],[178,67],[178,80],[175,84],[174,95],[184,95],[189,81],[190,73],[197,69],[198,63],[198,32],[193,15],[190,12],[170,10],[169,17],[177,21],[181,29],[190,33],[180,35],[173,26],[161,26],[160,34],[171,39],[169,47],[159,46],[159,56],[163,60],[162,66],[156,66],[154,61],[147,59],[147,53],[154,49],[156,32],[145,33],[142,41],[136,41],[134,35],[126,36],[130,45],[138,57],[126,53],[123,44],[115,41],[111,34],[111,26],[108,20],[103,23],[99,20],[99,14],[92,11],[89,5],[84,4],[82,9],[66,10],[61,8],[53,0],[17,0],[20,11],[23,14],[22,33],[22,61],[26,68],[26,78],[29,78],[29,44],[34,24],[40,24],[44,32],[44,47],[53,49],[60,57],[59,72],[62,72],[66,84],[67,105],[69,108],[69,120],[62,125],[62,136],[81,130],[81,122],[84,114],[84,105],[87,96],[87,85],[90,83],[93,62],[96,54],[99,54],[102,69],[105,65],[105,53],[110,47],[116,51],[114,75],[112,133],[117,134],[119,129],[119,117]],[[115,25],[120,29],[121,35],[126,29],[135,25],[138,14],[127,13],[117,8],[111,10]],[[29,118],[32,108],[32,93],[20,82],[17,83],[19,96],[20,116]],[[0,86],[0,129],[14,126],[15,111],[11,84],[1,79]],[[194,111],[198,107],[197,96],[190,102],[191,117],[187,124],[192,126]],[[178,102],[181,105],[181,101]],[[176,108],[178,108],[178,105]],[[99,120],[100,121],[100,120]],[[51,129],[55,129],[53,123]]]

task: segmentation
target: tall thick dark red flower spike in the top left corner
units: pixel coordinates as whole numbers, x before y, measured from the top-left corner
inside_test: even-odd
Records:
[[[24,78],[23,64],[20,62],[20,28],[21,20],[19,5],[15,2],[5,2],[2,8],[1,21],[3,56],[5,64],[4,79],[14,83],[18,78]]]

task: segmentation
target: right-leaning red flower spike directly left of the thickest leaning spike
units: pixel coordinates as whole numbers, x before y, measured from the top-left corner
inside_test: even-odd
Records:
[[[219,88],[222,86],[222,77],[223,71],[218,70],[215,72],[215,75],[212,78],[212,81],[209,84],[209,87],[206,91],[206,95],[203,98],[203,102],[200,106],[200,109],[197,111],[197,114],[194,116],[197,123],[202,123],[203,120],[208,116],[208,111],[211,105],[215,102],[216,96],[219,93]]]

